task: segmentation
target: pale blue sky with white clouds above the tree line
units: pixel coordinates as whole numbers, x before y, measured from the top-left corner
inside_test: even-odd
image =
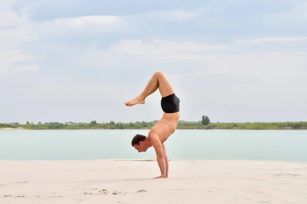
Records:
[[[6,0],[0,45],[0,122],[158,120],[156,70],[181,120],[306,121],[303,0]]]

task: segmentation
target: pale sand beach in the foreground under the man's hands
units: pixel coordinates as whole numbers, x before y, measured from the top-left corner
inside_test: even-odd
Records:
[[[307,203],[307,163],[0,161],[0,203]]]

